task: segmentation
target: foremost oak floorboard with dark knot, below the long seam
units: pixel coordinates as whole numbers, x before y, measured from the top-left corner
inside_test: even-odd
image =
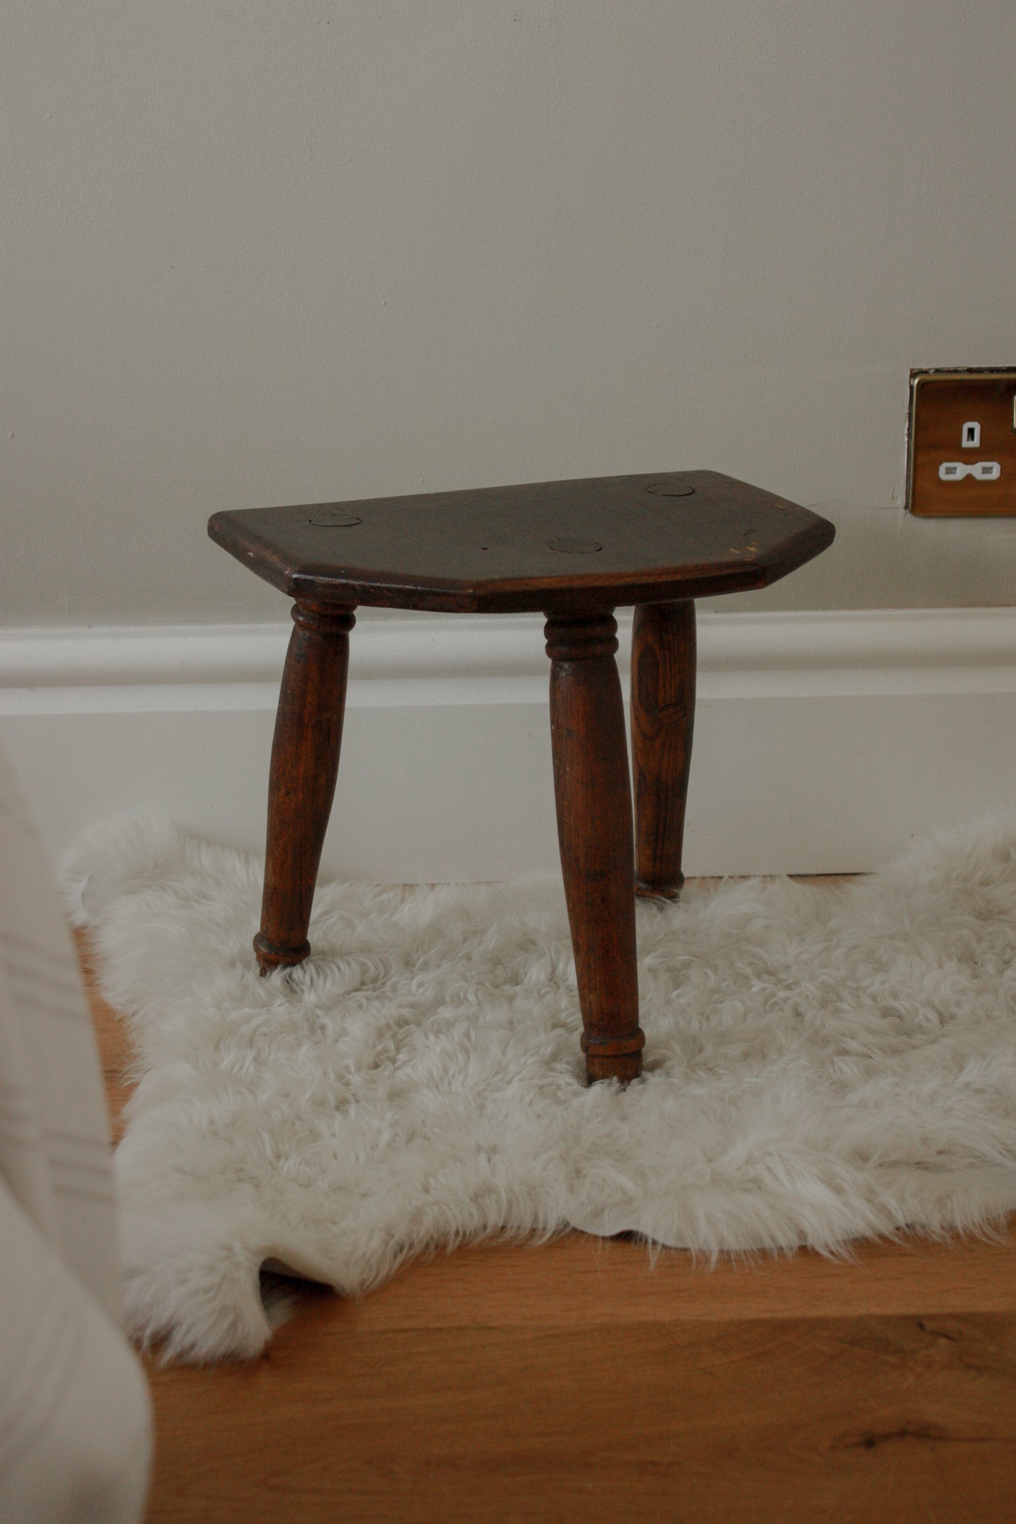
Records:
[[[152,1518],[1013,1516],[1011,1317],[286,1334],[155,1376]]]

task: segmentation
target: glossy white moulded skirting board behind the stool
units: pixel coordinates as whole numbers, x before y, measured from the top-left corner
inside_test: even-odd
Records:
[[[631,617],[618,663],[626,680]],[[136,809],[262,850],[288,625],[0,632],[0,742],[56,858]],[[539,617],[361,619],[324,872],[558,866]],[[1016,608],[704,614],[685,872],[847,873],[1016,805]]]

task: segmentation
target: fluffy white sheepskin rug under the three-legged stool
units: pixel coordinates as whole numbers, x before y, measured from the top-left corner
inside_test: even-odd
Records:
[[[583,1082],[554,881],[321,884],[260,978],[259,861],[129,820],[65,878],[137,1050],[126,1292],[169,1358],[256,1355],[265,1263],[361,1292],[486,1234],[832,1253],[1016,1207],[1016,817],[640,902],[628,1090]]]

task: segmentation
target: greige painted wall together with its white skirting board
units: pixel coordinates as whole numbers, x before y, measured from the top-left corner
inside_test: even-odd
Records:
[[[909,367],[1016,363],[1014,58],[1013,0],[5,0],[0,738],[53,850],[260,841],[286,608],[215,509],[679,466],[838,526],[707,610],[689,869],[1005,805],[1016,518],[902,500]],[[359,614],[329,870],[551,864],[539,620],[423,625]]]

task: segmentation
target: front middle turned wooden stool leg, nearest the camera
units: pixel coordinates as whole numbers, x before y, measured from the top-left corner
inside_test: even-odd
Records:
[[[550,738],[561,869],[586,1074],[641,1073],[635,860],[625,701],[611,614],[548,616]]]

